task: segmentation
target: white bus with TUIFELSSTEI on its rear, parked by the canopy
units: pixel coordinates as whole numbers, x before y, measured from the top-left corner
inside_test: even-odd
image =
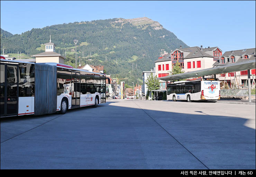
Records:
[[[219,79],[203,78],[195,81],[177,81],[167,84],[167,100],[219,100]]]

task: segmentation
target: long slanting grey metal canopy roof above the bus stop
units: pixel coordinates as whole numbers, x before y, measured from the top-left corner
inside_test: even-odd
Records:
[[[232,63],[224,66],[202,69],[198,71],[192,72],[185,72],[177,75],[170,75],[165,77],[159,77],[157,79],[164,80],[164,81],[172,81],[172,80],[180,80],[180,79],[187,79],[193,77],[202,77],[202,76],[209,76],[219,73],[227,73],[227,72],[235,72],[235,71],[242,71],[248,69],[255,69],[255,60],[248,60],[239,63]]]

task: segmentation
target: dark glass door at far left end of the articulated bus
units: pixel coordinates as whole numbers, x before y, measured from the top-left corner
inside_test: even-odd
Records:
[[[1,116],[18,115],[18,65],[1,64]]]

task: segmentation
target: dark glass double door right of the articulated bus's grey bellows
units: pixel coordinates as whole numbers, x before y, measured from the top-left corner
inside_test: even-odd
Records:
[[[80,107],[80,72],[72,71],[72,105],[71,108]]]

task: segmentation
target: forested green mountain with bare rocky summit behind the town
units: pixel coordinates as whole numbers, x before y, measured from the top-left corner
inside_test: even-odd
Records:
[[[171,50],[188,47],[171,31],[147,17],[135,19],[106,19],[81,21],[31,29],[21,35],[8,35],[1,29],[1,48],[6,53],[25,53],[28,56],[44,52],[44,43],[56,45],[56,52],[66,56],[66,64],[75,64],[75,44],[77,43],[77,63],[104,65],[111,77],[132,85],[142,71],[155,66],[154,61]]]

